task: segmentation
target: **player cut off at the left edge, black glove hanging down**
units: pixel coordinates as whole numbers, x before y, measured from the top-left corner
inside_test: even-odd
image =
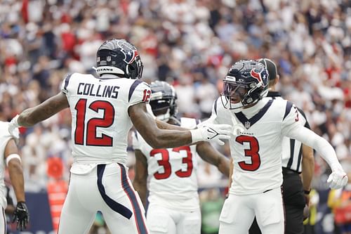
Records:
[[[17,229],[25,230],[29,221],[29,212],[25,203],[25,182],[23,179],[23,171],[18,148],[15,143],[15,138],[19,137],[18,129],[14,130],[14,136],[8,133],[8,122],[0,121],[0,233],[6,233],[6,216],[5,209],[6,201],[6,185],[4,182],[5,167],[8,168],[13,190],[17,200],[17,206],[13,214],[13,221],[17,221]]]

